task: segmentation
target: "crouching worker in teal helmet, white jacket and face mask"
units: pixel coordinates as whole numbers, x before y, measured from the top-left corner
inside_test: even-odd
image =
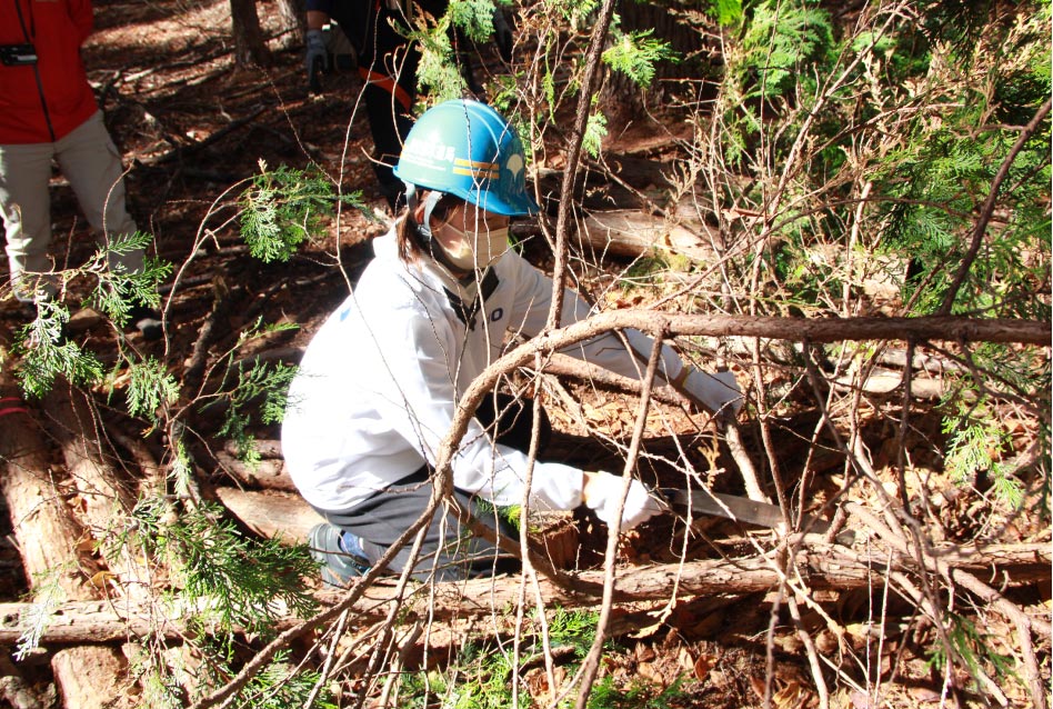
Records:
[[[312,530],[311,546],[330,582],[375,562],[423,513],[435,453],[465,389],[502,353],[508,333],[530,337],[545,324],[552,281],[508,242],[509,218],[538,211],[524,168],[519,139],[492,108],[455,100],[424,112],[395,168],[407,182],[408,208],[374,241],[377,258],[303,356],[289,391],[282,449],[300,493],[328,520]],[[588,313],[568,290],[563,322]],[[650,338],[624,334],[639,352],[650,351]],[[642,370],[613,333],[568,353],[633,378]],[[661,370],[711,410],[741,406],[730,372],[695,371],[668,347]],[[477,518],[500,527],[480,501],[522,500],[532,417],[528,402],[518,410],[487,408],[477,411],[452,459],[454,495]],[[512,418],[518,421],[510,425]],[[622,487],[606,472],[535,462],[530,500],[555,510],[584,503],[620,530],[661,511],[633,481],[616,519]],[[408,547],[390,568],[401,571],[409,555]],[[492,545],[440,511],[414,575],[492,572],[497,558]]]

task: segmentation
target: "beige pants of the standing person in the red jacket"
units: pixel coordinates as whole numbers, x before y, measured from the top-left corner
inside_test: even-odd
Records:
[[[96,113],[64,138],[49,143],[0,146],[0,214],[7,236],[14,296],[22,301],[54,294],[51,243],[51,161],[69,180],[81,211],[102,243],[109,234],[136,232],[124,204],[121,156]],[[142,251],[107,254],[110,268],[142,268]]]

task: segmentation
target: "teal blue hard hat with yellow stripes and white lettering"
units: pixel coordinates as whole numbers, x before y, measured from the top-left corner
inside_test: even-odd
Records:
[[[525,171],[523,146],[508,121],[485,103],[468,99],[424,111],[394,168],[411,200],[424,188],[505,217],[539,209],[526,191]]]

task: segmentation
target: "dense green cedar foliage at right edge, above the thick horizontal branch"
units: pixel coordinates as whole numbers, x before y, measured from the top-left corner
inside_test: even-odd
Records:
[[[1012,21],[984,26],[976,41],[972,13],[941,26],[950,36],[932,92],[945,109],[916,113],[902,142],[875,166],[886,196],[879,218],[890,251],[910,254],[913,278],[904,296],[913,313],[929,314],[945,299],[956,264],[973,238],[979,207],[1019,136],[1050,92],[1049,3]],[[973,37],[961,41],[961,34]],[[945,64],[945,67],[944,67]],[[971,69],[974,73],[965,72]],[[1006,122],[1003,122],[1006,121]],[[1012,122],[1007,122],[1012,121]],[[953,312],[985,317],[1050,317],[1050,123],[1024,144],[999,192],[1000,217],[987,224],[979,258],[955,294]]]

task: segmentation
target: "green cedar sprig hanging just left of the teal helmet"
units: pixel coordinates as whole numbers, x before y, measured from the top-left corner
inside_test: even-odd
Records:
[[[361,193],[338,197],[317,168],[269,170],[260,160],[260,173],[241,193],[241,236],[264,263],[288,261],[305,240],[323,236],[323,217],[341,202],[361,207]]]

